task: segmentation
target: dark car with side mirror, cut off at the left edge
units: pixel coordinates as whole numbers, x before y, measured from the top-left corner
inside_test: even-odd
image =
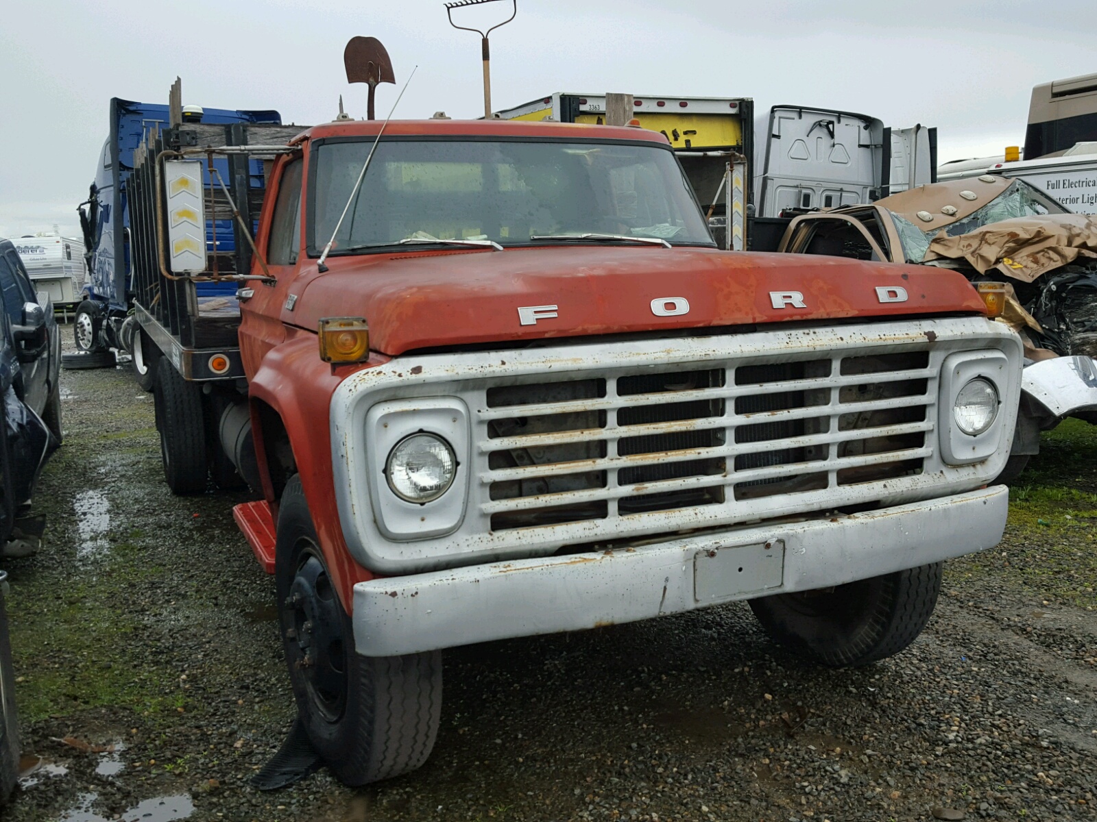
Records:
[[[54,307],[35,294],[23,261],[0,240],[0,555],[35,550],[43,522],[29,516],[46,458],[61,442],[60,335]]]

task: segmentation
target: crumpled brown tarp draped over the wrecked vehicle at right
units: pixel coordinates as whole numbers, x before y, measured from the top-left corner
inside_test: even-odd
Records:
[[[992,222],[959,237],[942,230],[929,244],[925,262],[962,258],[980,274],[997,269],[1031,283],[1079,256],[1097,258],[1097,219],[1085,214],[1048,214]]]

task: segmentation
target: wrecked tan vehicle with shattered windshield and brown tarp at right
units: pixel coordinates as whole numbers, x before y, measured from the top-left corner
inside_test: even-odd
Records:
[[[992,174],[934,183],[870,205],[795,217],[779,251],[920,263],[1011,288],[999,322],[1025,345],[1009,461],[1015,479],[1040,432],[1067,416],[1097,423],[1097,219],[1072,214],[1021,180]]]

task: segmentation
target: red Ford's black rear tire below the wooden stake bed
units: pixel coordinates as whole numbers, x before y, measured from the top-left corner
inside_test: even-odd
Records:
[[[152,398],[168,488],[179,495],[202,493],[206,489],[202,389],[183,379],[171,361],[161,357]]]

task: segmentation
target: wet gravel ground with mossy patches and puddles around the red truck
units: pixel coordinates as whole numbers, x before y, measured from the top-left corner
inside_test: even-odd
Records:
[[[248,778],[293,706],[239,500],[171,496],[124,367],[63,380],[48,546],[7,563],[23,749],[42,757],[11,822],[1097,819],[1088,426],[1045,438],[1003,546],[950,563],[894,659],[804,664],[745,605],[456,649],[422,769],[261,794]]]

